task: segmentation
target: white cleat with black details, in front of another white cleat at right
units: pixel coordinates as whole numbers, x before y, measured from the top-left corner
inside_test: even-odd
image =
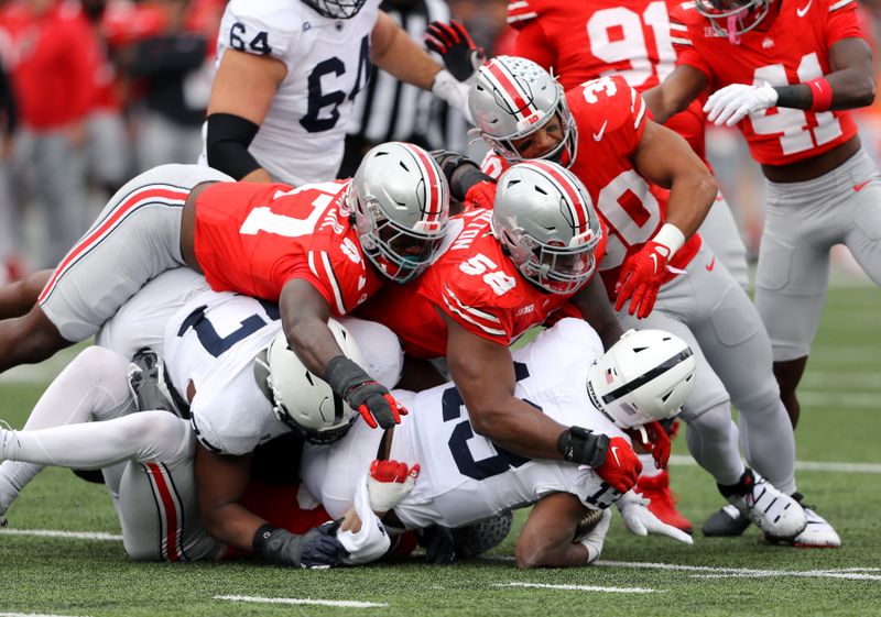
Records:
[[[807,526],[804,508],[752,472],[754,484],[746,495],[729,497],[737,509],[747,515],[769,540],[793,540]]]

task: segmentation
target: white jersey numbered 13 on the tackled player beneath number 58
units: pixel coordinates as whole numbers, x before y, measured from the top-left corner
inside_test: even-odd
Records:
[[[562,425],[627,439],[587,396],[587,371],[600,354],[602,344],[590,326],[561,320],[513,354],[515,395]],[[394,429],[390,458],[422,467],[413,492],[394,509],[407,528],[461,527],[534,504],[551,493],[570,493],[595,509],[620,497],[590,469],[525,459],[476,436],[453,384],[393,395],[410,415]],[[356,426],[336,444],[304,450],[303,480],[313,495],[322,496],[331,516],[341,509],[341,495],[347,491],[349,499],[355,495],[358,478],[376,456],[376,433]]]

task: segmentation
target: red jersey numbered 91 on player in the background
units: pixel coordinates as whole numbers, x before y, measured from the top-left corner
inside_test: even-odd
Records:
[[[519,31],[515,56],[558,76],[564,90],[589,79],[620,75],[643,92],[676,65],[667,10],[682,0],[512,0],[508,23]],[[667,121],[704,157],[703,101]]]

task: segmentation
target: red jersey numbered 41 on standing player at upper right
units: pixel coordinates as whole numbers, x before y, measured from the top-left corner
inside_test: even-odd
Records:
[[[679,46],[677,63],[694,66],[709,79],[710,89],[729,84],[785,86],[831,73],[829,48],[842,38],[862,36],[853,0],[776,2],[758,27],[732,45],[694,8],[672,13]],[[817,156],[857,133],[848,111],[802,111],[773,107],[751,113],[738,124],[752,157],[766,165],[787,165]]]

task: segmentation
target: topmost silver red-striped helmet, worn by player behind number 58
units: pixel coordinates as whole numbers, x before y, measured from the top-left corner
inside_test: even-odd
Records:
[[[534,133],[555,117],[563,140],[540,156],[566,167],[575,162],[578,132],[566,104],[563,87],[544,68],[515,56],[496,56],[475,73],[468,108],[477,132],[496,153],[508,161],[523,161],[513,144]]]

